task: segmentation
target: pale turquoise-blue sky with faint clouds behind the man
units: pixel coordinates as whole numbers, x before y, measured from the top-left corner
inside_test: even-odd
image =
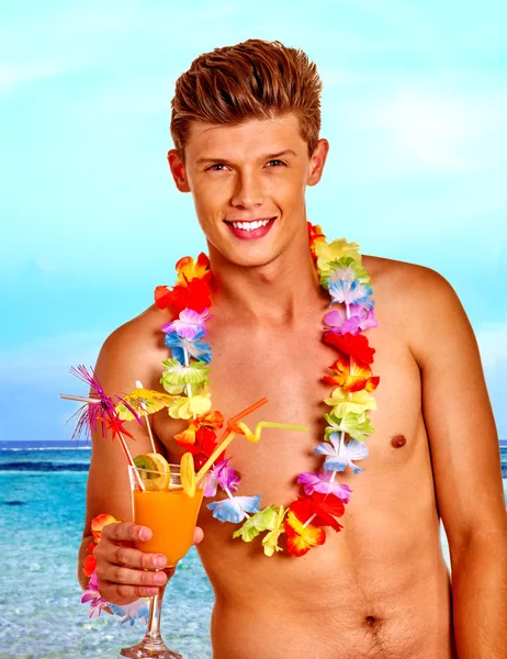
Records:
[[[452,283],[507,438],[505,2],[10,4],[0,439],[65,438],[58,392],[80,389],[69,366],[93,364],[108,334],[172,281],[174,260],[204,247],[166,166],[169,103],[194,57],[249,37],[302,47],[319,68],[331,149],[309,219]]]

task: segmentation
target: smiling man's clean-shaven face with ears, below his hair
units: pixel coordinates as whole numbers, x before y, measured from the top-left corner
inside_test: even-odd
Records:
[[[185,165],[174,150],[169,165],[179,190],[192,192],[210,253],[262,266],[296,236],[306,241],[305,188],[318,182],[327,150],[320,139],[308,157],[295,114],[238,125],[193,122]]]

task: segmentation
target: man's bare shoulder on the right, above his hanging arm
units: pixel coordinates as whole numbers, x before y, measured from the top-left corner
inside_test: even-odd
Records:
[[[399,327],[419,365],[457,327],[471,331],[458,293],[437,270],[375,256],[363,256],[363,266],[371,276],[378,316]]]

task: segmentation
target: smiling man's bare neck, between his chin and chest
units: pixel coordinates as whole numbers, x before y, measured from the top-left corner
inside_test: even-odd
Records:
[[[314,305],[322,306],[323,293],[308,243],[301,242],[262,266],[238,266],[209,245],[213,272],[213,306],[249,322],[292,324]],[[215,312],[213,312],[215,313]]]

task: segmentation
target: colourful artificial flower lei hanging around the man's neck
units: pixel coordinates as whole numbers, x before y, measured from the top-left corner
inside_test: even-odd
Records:
[[[343,514],[343,504],[349,502],[352,490],[336,482],[336,474],[347,468],[353,473],[363,471],[354,460],[368,456],[364,440],[374,433],[367,413],[376,409],[371,392],[380,378],[371,370],[375,350],[361,334],[378,325],[370,277],[361,265],[357,243],[341,238],[328,244],[320,226],[309,223],[308,238],[320,286],[329,292],[333,306],[324,319],[323,339],[337,350],[337,359],[329,367],[330,375],[323,378],[335,387],[330,398],[325,399],[331,411],[324,415],[328,424],[324,442],[315,449],[324,456],[323,470],[298,474],[304,493],[288,507],[269,505],[261,511],[260,495],[233,495],[238,490],[239,478],[229,466],[230,458],[221,459],[209,472],[204,493],[215,496],[219,487],[227,494],[227,499],[207,505],[215,518],[236,524],[246,520],[233,537],[249,543],[268,532],[262,538],[267,556],[283,550],[279,545],[282,534],[286,536],[286,551],[304,556],[312,547],[324,544],[325,526],[335,532],[341,529],[336,517]],[[188,428],[176,435],[176,440],[193,454],[195,469],[199,469],[214,450],[215,429],[224,422],[219,412],[211,411],[207,373],[212,350],[202,340],[206,336],[205,323],[211,317],[212,273],[204,254],[200,254],[196,261],[191,257],[180,259],[176,269],[178,278],[172,288],[155,289],[157,306],[170,309],[176,319],[161,328],[171,358],[162,361],[165,370],[160,382],[169,394],[179,396],[168,413],[172,418],[189,421]],[[251,438],[246,426],[244,433]]]

